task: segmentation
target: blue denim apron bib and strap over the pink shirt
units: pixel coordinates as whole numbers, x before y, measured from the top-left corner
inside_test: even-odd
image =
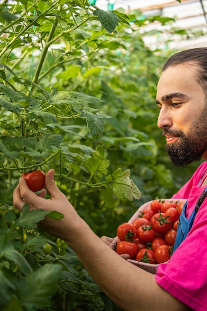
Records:
[[[195,206],[191,216],[189,217],[189,219],[187,219],[185,216],[185,211],[186,211],[186,208],[188,205],[188,201],[186,201],[186,203],[184,204],[182,213],[180,214],[180,217],[179,217],[179,225],[178,225],[178,229],[177,229],[177,234],[176,234],[176,238],[175,238],[175,244],[173,247],[173,252],[178,248],[178,246],[182,243],[182,241],[186,238],[187,234],[191,230],[191,228],[193,226],[194,219],[196,217],[196,214],[197,214],[198,210],[200,209],[202,203],[204,202],[204,200],[206,198],[207,198],[207,187],[202,192],[202,194],[200,195],[200,197],[196,203],[196,206]]]

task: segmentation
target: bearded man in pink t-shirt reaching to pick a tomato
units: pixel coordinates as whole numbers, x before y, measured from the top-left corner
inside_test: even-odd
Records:
[[[166,151],[175,165],[185,166],[202,157],[205,162],[173,198],[188,199],[176,250],[168,263],[160,264],[156,275],[129,263],[108,247],[77,215],[54,181],[54,170],[46,175],[46,190],[37,196],[23,178],[14,190],[14,206],[22,210],[57,210],[59,221],[45,219],[39,226],[64,239],[84,267],[118,306],[125,311],[205,311],[207,310],[207,200],[194,207],[207,183],[207,48],[183,51],[165,64],[157,85],[160,109],[158,127],[166,137]],[[201,205],[201,206],[200,206]],[[189,217],[195,214],[192,224]],[[187,217],[187,218],[186,218]],[[192,228],[191,228],[192,226]],[[85,238],[87,236],[87,238]],[[87,254],[87,256],[85,255]]]

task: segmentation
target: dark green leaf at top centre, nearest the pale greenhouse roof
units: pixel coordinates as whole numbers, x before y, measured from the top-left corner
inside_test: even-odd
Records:
[[[112,33],[116,26],[119,26],[119,22],[121,22],[120,18],[113,11],[104,11],[98,8],[93,11],[93,14],[98,15],[101,25],[109,33]]]

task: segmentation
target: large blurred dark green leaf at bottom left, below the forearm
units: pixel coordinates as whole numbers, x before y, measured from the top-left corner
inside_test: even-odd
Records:
[[[26,310],[48,307],[61,278],[60,264],[45,264],[25,278],[24,290],[19,292],[20,301]]]

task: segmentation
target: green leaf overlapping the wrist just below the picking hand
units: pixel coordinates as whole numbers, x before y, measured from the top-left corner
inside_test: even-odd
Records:
[[[56,214],[57,213],[57,214]],[[52,215],[53,219],[62,219],[64,216],[54,211],[43,211],[42,209],[39,210],[32,210],[29,212],[29,205],[25,204],[22,209],[22,215],[15,221],[16,225],[28,228],[28,229],[36,229],[37,223],[45,218],[45,216],[50,217]]]

